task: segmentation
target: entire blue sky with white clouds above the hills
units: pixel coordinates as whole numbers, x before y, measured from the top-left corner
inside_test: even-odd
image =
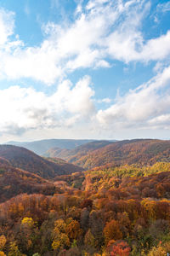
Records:
[[[170,1],[0,0],[0,143],[170,138]]]

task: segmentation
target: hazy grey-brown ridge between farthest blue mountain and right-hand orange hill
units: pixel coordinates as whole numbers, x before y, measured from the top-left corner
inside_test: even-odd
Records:
[[[59,157],[64,160],[69,160],[70,162],[80,159],[83,155],[88,154],[98,148],[103,148],[106,145],[113,143],[112,141],[94,141],[90,143],[85,143],[77,148],[73,149],[63,149],[63,148],[50,148],[44,154],[48,157]]]

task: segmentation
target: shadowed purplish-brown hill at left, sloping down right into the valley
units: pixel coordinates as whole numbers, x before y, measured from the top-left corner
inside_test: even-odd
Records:
[[[26,148],[12,145],[0,145],[0,157],[7,160],[11,166],[35,173],[44,178],[82,172],[82,168],[77,166],[60,165],[54,161],[46,160]]]

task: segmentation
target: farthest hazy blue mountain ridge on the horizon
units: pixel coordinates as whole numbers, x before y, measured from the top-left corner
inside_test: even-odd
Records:
[[[49,148],[76,148],[82,144],[93,142],[94,140],[73,140],[73,139],[47,139],[30,143],[8,142],[9,145],[27,148],[36,154],[44,154]]]

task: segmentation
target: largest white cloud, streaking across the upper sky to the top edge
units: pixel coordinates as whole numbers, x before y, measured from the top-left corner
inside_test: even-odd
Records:
[[[109,59],[162,61],[170,55],[170,32],[144,39],[142,22],[150,14],[150,5],[146,0],[77,3],[74,21],[42,26],[44,40],[37,47],[11,38],[15,36],[14,13],[1,9],[0,78],[54,84],[80,68],[111,67]]]

